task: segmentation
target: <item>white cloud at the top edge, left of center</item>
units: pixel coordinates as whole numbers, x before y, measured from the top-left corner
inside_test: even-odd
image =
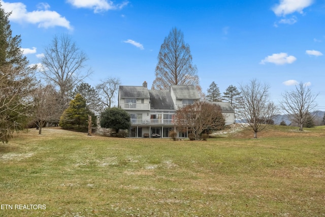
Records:
[[[122,9],[128,4],[128,2],[125,1],[122,4],[115,5],[113,2],[107,0],[68,0],[67,2],[76,8],[93,9],[94,13]]]

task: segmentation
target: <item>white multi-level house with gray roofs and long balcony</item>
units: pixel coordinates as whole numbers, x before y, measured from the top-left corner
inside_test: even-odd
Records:
[[[174,123],[178,107],[200,100],[193,85],[171,85],[169,90],[149,90],[147,82],[142,86],[119,86],[118,106],[131,115],[129,137],[170,137],[175,131],[178,137],[187,137],[187,132],[178,132]],[[226,125],[234,123],[234,109],[230,103],[216,102],[221,106]]]

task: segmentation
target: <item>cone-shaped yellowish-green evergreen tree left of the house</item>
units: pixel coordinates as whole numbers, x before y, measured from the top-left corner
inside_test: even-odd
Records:
[[[59,125],[63,129],[88,129],[88,114],[92,116],[92,124],[95,126],[95,115],[86,106],[86,100],[77,94],[75,99],[70,102],[69,107],[64,110]]]

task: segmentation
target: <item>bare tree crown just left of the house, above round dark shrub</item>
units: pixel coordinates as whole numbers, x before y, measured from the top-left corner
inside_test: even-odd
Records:
[[[96,85],[96,90],[100,96],[100,101],[104,105],[104,108],[111,108],[114,103],[116,91],[118,90],[121,81],[118,78],[107,78],[102,83]]]

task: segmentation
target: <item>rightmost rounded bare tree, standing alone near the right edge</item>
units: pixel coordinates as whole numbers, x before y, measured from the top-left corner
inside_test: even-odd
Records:
[[[295,90],[286,91],[282,94],[280,108],[287,113],[289,120],[299,125],[299,130],[303,130],[303,125],[308,115],[317,106],[315,99],[318,94],[312,94],[311,89],[306,84],[300,82]],[[313,112],[312,119],[317,113]]]

